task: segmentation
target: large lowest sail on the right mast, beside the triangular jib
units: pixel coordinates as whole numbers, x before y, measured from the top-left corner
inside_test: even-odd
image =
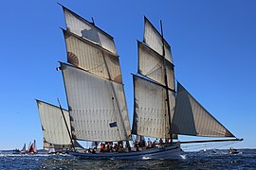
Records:
[[[134,76],[135,112],[133,134],[170,138],[166,89],[159,84]],[[169,91],[171,116],[174,113],[174,92]]]

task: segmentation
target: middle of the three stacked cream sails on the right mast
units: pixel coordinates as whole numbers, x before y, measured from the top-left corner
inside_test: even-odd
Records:
[[[137,42],[137,49],[138,73],[166,86],[163,57],[142,42]],[[166,60],[165,66],[168,87],[174,90],[174,66],[168,60]]]

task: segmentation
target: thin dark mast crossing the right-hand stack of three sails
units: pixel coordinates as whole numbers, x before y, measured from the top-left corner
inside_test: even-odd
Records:
[[[168,122],[169,122],[169,134],[170,134],[170,139],[171,139],[171,144],[173,144],[173,134],[172,134],[172,130],[171,130],[171,119],[172,119],[172,115],[171,115],[171,109],[170,109],[170,100],[169,100],[169,88],[168,88],[168,80],[167,80],[167,74],[166,74],[166,59],[165,59],[165,48],[164,48],[164,38],[163,38],[163,26],[162,26],[162,20],[160,20],[160,26],[161,26],[161,37],[162,37],[162,48],[163,48],[163,66],[164,66],[164,81],[165,81],[165,91],[166,91],[166,96],[167,96],[167,111],[168,111]]]

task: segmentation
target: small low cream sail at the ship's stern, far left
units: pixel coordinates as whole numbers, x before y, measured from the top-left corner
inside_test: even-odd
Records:
[[[68,111],[64,110],[64,117],[59,107],[36,100],[45,141],[49,144],[71,144],[64,118],[70,129]]]

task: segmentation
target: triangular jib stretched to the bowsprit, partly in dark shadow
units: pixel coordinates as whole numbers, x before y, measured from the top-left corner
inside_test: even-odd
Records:
[[[172,129],[174,133],[182,135],[234,137],[180,83],[177,84]]]

